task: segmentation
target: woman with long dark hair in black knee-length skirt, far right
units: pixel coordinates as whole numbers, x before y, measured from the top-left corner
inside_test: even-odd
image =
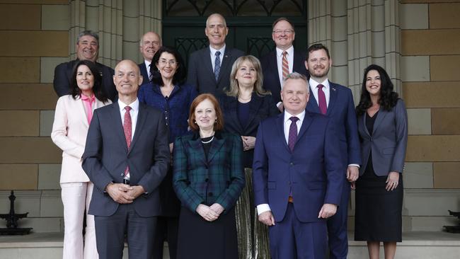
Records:
[[[386,71],[372,64],[364,71],[356,108],[362,150],[356,182],[355,240],[367,241],[369,258],[394,258],[401,242],[401,210],[408,120],[403,100]]]

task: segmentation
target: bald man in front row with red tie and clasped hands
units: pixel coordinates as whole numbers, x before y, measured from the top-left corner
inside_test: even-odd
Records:
[[[86,138],[83,168],[95,186],[88,213],[99,258],[121,259],[126,233],[130,258],[151,259],[158,186],[171,161],[168,131],[163,113],[137,99],[137,64],[121,61],[113,81],[118,101],[95,110]]]

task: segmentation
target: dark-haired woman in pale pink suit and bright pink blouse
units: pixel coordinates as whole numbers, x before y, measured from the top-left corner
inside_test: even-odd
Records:
[[[93,110],[110,103],[103,94],[102,76],[96,64],[81,60],[71,77],[71,94],[57,100],[51,138],[62,149],[61,196],[64,204],[64,249],[62,258],[98,258],[94,217],[88,211],[93,184],[81,168],[81,156]],[[84,246],[85,244],[85,246]]]

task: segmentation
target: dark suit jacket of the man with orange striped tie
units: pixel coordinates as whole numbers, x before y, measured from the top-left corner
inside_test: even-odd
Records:
[[[292,71],[304,74],[309,78],[309,72],[305,68],[305,53],[294,50],[294,66]],[[263,73],[263,88],[272,92],[273,101],[281,101],[281,84],[280,74],[278,74],[278,65],[276,62],[276,50],[269,52],[260,59]]]

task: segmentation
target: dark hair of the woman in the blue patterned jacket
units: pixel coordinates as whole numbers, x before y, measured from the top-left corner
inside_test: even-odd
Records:
[[[155,53],[154,58],[151,59],[151,66],[150,66],[150,73],[151,73],[151,82],[154,84],[157,84],[159,86],[164,86],[163,79],[161,79],[161,74],[156,68],[156,65],[158,64],[158,61],[160,59],[160,56],[163,52],[172,54],[174,58],[176,59],[176,62],[178,62],[178,68],[176,70],[176,74],[173,76],[173,85],[180,85],[183,84],[185,81],[185,76],[187,73],[187,69],[185,68],[185,62],[182,59],[182,56],[180,56],[179,52],[174,49],[173,47],[167,47],[163,46],[160,47],[160,49]]]

